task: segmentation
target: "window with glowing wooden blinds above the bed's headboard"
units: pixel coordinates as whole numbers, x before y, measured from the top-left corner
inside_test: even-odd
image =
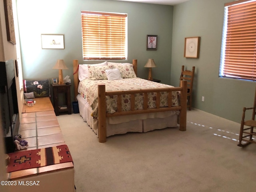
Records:
[[[81,11],[84,60],[123,60],[127,56],[127,14]]]

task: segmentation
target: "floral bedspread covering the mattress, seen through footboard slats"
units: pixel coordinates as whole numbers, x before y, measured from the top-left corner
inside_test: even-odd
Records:
[[[106,85],[107,91],[136,90],[150,88],[173,87],[166,84],[148,81],[142,78],[124,78],[119,80],[90,80],[84,79],[79,83],[78,92],[92,107],[92,116],[98,118],[98,84]],[[160,93],[160,107],[168,106],[167,92]],[[180,92],[172,92],[172,106],[179,106]],[[117,96],[106,96],[106,111],[114,113],[117,110]],[[156,93],[148,93],[148,108],[156,108]],[[135,95],[135,110],[143,109],[142,94]],[[130,110],[130,95],[122,96],[122,111]]]

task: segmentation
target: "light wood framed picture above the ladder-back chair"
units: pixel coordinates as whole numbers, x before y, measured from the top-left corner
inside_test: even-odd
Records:
[[[184,57],[199,58],[200,37],[186,37],[184,45]]]

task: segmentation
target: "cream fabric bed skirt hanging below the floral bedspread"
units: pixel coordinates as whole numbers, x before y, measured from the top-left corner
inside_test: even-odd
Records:
[[[78,94],[76,98],[78,100],[80,115],[83,120],[87,122],[88,126],[90,126],[90,128],[97,134],[98,120],[91,116],[92,108],[80,94]],[[107,137],[116,134],[125,134],[127,132],[148,132],[167,127],[177,127],[178,114],[179,111],[166,111],[107,117]]]

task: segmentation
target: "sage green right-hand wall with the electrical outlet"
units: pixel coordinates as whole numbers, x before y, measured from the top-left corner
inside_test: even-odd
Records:
[[[226,2],[230,0],[190,0],[174,6],[170,82],[178,86],[182,65],[195,66],[193,107],[240,122],[242,108],[253,105],[255,82],[218,77]],[[184,38],[194,36],[201,37],[200,56],[184,58]]]

